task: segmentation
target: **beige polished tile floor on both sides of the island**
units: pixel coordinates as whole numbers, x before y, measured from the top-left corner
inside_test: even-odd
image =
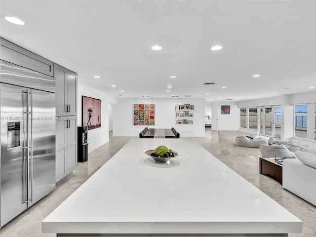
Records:
[[[303,234],[289,234],[289,237],[316,237],[316,207],[284,190],[275,180],[259,174],[257,148],[238,147],[234,144],[241,131],[205,130],[205,137],[191,138],[203,148],[235,170],[239,175],[273,198],[280,205],[303,221]],[[73,176],[61,183],[48,196],[19,215],[0,230],[0,237],[44,237],[55,234],[42,234],[41,221],[63,200],[69,197],[85,180],[106,163],[130,139],[134,137],[112,137],[110,142],[89,154],[89,160],[78,163]]]

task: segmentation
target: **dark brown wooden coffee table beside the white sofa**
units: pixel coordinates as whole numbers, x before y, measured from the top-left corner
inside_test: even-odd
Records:
[[[282,184],[282,165],[276,162],[275,157],[260,157],[260,174],[267,175]]]

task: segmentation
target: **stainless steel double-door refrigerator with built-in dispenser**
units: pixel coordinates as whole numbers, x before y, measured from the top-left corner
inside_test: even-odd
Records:
[[[55,79],[0,60],[0,227],[55,188]]]

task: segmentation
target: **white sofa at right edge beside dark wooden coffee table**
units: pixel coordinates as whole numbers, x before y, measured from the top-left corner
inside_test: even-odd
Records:
[[[316,206],[316,168],[297,158],[284,159],[282,186]]]

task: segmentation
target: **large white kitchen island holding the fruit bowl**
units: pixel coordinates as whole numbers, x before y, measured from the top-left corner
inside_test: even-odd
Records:
[[[144,152],[159,145],[179,156],[155,163]],[[132,139],[43,220],[42,232],[284,237],[301,233],[302,222],[193,140]]]

